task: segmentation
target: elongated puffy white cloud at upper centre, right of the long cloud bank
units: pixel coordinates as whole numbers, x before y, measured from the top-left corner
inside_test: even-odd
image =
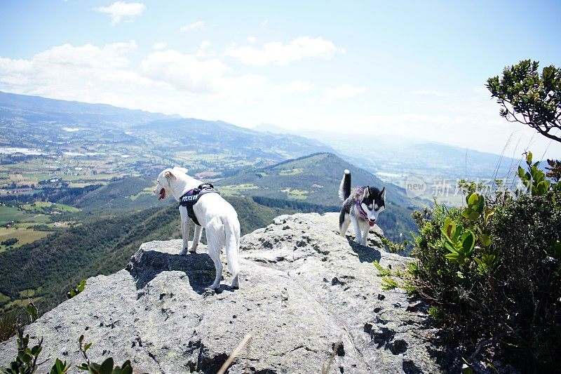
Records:
[[[283,44],[271,41],[263,44],[262,48],[252,46],[230,46],[225,54],[245,65],[264,66],[268,64],[286,65],[289,62],[304,58],[331,58],[335,53],[345,53],[343,48],[337,48],[332,41],[323,38],[302,36]]]

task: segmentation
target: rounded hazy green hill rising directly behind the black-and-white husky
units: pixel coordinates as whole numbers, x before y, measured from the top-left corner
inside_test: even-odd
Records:
[[[386,187],[387,207],[379,216],[378,225],[390,239],[398,241],[408,237],[409,232],[415,229],[411,213],[414,209],[421,208],[423,202],[410,199],[405,194],[405,189],[384,183],[334,154],[312,154],[273,166],[243,171],[219,180],[216,187],[225,194],[302,201],[337,211],[341,204],[337,192],[345,169],[351,171],[353,187]]]

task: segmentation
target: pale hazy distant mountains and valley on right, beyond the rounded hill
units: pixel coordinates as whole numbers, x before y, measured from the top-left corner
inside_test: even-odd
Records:
[[[311,136],[346,159],[384,180],[397,181],[409,175],[457,178],[513,178],[513,170],[522,159],[519,154],[492,154],[436,142],[424,142],[392,135],[360,135],[339,133],[294,133],[272,124],[255,128],[269,133],[290,133]],[[392,178],[395,177],[395,178]]]

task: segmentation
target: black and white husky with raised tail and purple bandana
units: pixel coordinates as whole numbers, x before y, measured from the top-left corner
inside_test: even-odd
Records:
[[[351,195],[351,172],[345,170],[339,198],[343,200],[339,214],[339,234],[345,236],[351,222],[356,234],[356,242],[366,246],[366,238],[370,227],[374,226],[378,215],[386,208],[386,187],[381,191],[376,187],[357,187]]]

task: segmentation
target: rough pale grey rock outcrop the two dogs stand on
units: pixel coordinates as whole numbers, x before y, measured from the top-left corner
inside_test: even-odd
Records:
[[[81,294],[27,326],[50,358],[39,372],[56,357],[81,363],[83,334],[95,362],[112,356],[138,373],[216,373],[248,333],[229,373],[443,371],[424,305],[382,290],[372,265],[397,269],[410,259],[381,250],[377,227],[365,247],[339,236],[337,225],[337,213],[282,215],[243,236],[241,288],[229,288],[225,272],[217,293],[205,290],[215,268],[204,246],[180,256],[180,240],[144,243],[127,269],[88,279]],[[0,366],[15,353],[13,338],[0,343]]]

